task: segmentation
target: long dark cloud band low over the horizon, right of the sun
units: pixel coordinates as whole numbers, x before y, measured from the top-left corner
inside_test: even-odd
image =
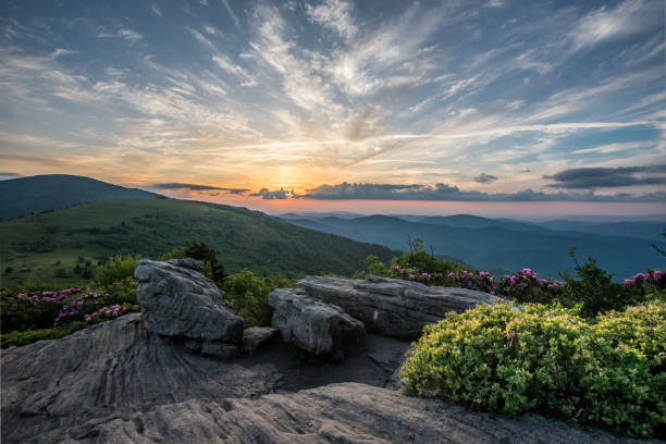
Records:
[[[446,184],[432,186],[419,184],[349,184],[347,182],[337,185],[321,185],[317,188],[308,189],[306,194],[293,195],[293,197],[317,200],[666,201],[666,193],[662,192],[644,195],[628,193],[596,195],[592,192],[543,193],[526,189],[518,193],[489,194],[474,190],[464,192],[457,186]]]

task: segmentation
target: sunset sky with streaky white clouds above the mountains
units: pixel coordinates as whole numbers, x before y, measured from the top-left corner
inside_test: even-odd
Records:
[[[267,211],[666,212],[662,0],[0,8],[0,178]]]

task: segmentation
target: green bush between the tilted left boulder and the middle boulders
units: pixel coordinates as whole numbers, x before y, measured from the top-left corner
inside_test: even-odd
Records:
[[[273,309],[268,304],[269,293],[294,285],[295,280],[279,275],[256,276],[251,271],[244,271],[224,280],[224,300],[245,319],[246,325],[270,325]]]

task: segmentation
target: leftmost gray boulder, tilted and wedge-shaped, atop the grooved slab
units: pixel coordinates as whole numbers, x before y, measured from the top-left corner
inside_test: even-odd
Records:
[[[238,344],[243,318],[224,306],[224,293],[199,271],[201,262],[140,260],[134,276],[146,329],[164,336]]]

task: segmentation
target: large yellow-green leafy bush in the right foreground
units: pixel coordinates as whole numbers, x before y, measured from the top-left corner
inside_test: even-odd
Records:
[[[662,434],[666,304],[593,321],[538,305],[449,313],[414,344],[400,372],[405,390],[506,416],[536,410],[629,435]]]

